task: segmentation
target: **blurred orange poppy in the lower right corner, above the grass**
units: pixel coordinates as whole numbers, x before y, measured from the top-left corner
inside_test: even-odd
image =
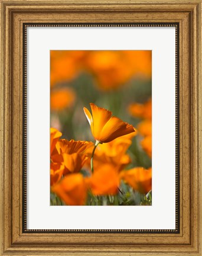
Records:
[[[135,167],[122,171],[120,172],[120,178],[140,193],[146,194],[152,188],[152,168]]]

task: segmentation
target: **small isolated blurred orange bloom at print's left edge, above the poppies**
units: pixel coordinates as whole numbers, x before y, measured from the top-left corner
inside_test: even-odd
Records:
[[[71,107],[76,100],[76,94],[71,88],[54,89],[50,94],[50,107],[52,111],[60,111]]]

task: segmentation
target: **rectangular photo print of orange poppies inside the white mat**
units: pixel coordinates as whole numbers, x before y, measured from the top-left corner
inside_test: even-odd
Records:
[[[152,205],[152,52],[50,51],[50,205]]]

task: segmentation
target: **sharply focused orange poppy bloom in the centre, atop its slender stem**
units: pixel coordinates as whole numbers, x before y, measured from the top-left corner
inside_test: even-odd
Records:
[[[112,112],[105,108],[97,107],[90,103],[92,114],[87,108],[83,108],[89,121],[93,137],[100,143],[110,142],[117,137],[127,135],[135,131],[131,124],[125,123],[118,117],[112,116]]]

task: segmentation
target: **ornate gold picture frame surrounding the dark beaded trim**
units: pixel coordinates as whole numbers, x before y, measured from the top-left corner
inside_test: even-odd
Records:
[[[202,255],[201,0],[1,0],[1,255]],[[25,232],[26,24],[178,24],[178,232]]]

